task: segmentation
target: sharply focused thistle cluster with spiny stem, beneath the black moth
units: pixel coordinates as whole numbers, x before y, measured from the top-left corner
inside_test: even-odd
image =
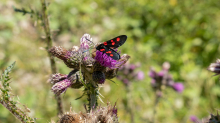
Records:
[[[129,56],[124,54],[119,60],[114,60],[99,50],[91,56],[91,48],[94,48],[92,38],[89,34],[84,34],[80,39],[80,47],[73,46],[66,50],[61,46],[54,46],[49,49],[53,56],[61,59],[67,67],[73,69],[68,75],[60,73],[51,75],[52,91],[60,95],[68,88],[83,87],[83,95],[87,95],[89,102],[87,112],[95,111],[98,106],[99,85],[104,84],[106,79],[116,77],[118,69],[129,59]]]

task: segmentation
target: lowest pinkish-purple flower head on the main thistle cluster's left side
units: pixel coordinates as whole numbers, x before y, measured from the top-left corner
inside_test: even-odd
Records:
[[[60,95],[61,93],[65,92],[67,88],[70,87],[71,85],[72,83],[69,79],[64,79],[63,81],[54,84],[51,90],[55,94]]]

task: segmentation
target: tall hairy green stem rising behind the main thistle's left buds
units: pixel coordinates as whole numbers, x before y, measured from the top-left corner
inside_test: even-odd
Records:
[[[50,33],[50,25],[49,25],[49,20],[48,20],[48,15],[47,15],[47,5],[45,0],[41,0],[41,5],[42,5],[42,21],[43,21],[43,27],[44,31],[46,34],[46,40],[47,40],[47,51],[52,47],[53,41],[51,38],[51,33]],[[57,73],[57,68],[56,68],[56,62],[54,60],[54,57],[48,52],[48,57],[50,59],[50,65],[51,65],[51,72],[52,74]],[[63,114],[63,106],[62,106],[62,100],[60,96],[55,95],[56,101],[57,101],[57,110],[58,110],[58,115]]]

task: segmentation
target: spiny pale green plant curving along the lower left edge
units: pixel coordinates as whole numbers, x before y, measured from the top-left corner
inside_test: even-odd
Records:
[[[35,118],[31,118],[27,115],[30,112],[30,109],[27,108],[25,105],[25,110],[22,110],[18,107],[20,104],[18,101],[14,100],[14,95],[10,92],[10,77],[9,73],[11,72],[12,68],[14,67],[15,62],[8,66],[5,71],[0,76],[0,103],[7,108],[11,114],[13,114],[18,120],[22,123],[32,123],[35,122]]]

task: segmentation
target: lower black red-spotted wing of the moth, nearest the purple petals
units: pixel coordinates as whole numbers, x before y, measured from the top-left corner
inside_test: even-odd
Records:
[[[104,44],[100,44],[99,46],[96,47],[97,50],[100,52],[103,52],[113,58],[114,60],[119,60],[120,55],[113,49],[106,47]]]

